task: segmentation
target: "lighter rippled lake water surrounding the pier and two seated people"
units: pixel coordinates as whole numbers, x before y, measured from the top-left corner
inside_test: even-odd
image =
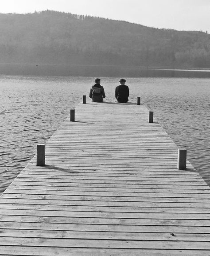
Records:
[[[119,78],[101,78],[106,101],[114,100]],[[0,76],[0,193],[89,95],[93,77]],[[137,96],[210,184],[210,79],[128,78],[130,101]]]

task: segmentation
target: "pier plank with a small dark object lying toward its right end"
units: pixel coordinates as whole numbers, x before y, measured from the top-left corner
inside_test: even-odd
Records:
[[[30,229],[0,229],[0,237],[38,237],[38,238],[60,238],[60,239],[91,239],[93,240],[172,240],[172,241],[210,241],[207,233],[175,233],[169,232],[104,232],[104,231],[55,231],[55,230],[30,230]]]

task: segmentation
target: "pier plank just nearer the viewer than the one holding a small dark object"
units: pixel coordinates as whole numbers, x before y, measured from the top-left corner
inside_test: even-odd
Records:
[[[1,237],[0,245],[40,246],[39,238]],[[42,246],[66,248],[122,248],[122,249],[180,249],[210,250],[209,241],[133,241],[133,240],[96,240],[96,239],[52,239],[42,238]]]

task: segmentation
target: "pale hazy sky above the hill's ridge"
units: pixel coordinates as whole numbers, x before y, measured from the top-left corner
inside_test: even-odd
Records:
[[[210,0],[0,0],[1,13],[47,9],[210,33]]]

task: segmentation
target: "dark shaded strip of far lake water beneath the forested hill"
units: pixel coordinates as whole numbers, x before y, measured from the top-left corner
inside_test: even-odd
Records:
[[[1,75],[210,78],[210,68],[0,63]]]

